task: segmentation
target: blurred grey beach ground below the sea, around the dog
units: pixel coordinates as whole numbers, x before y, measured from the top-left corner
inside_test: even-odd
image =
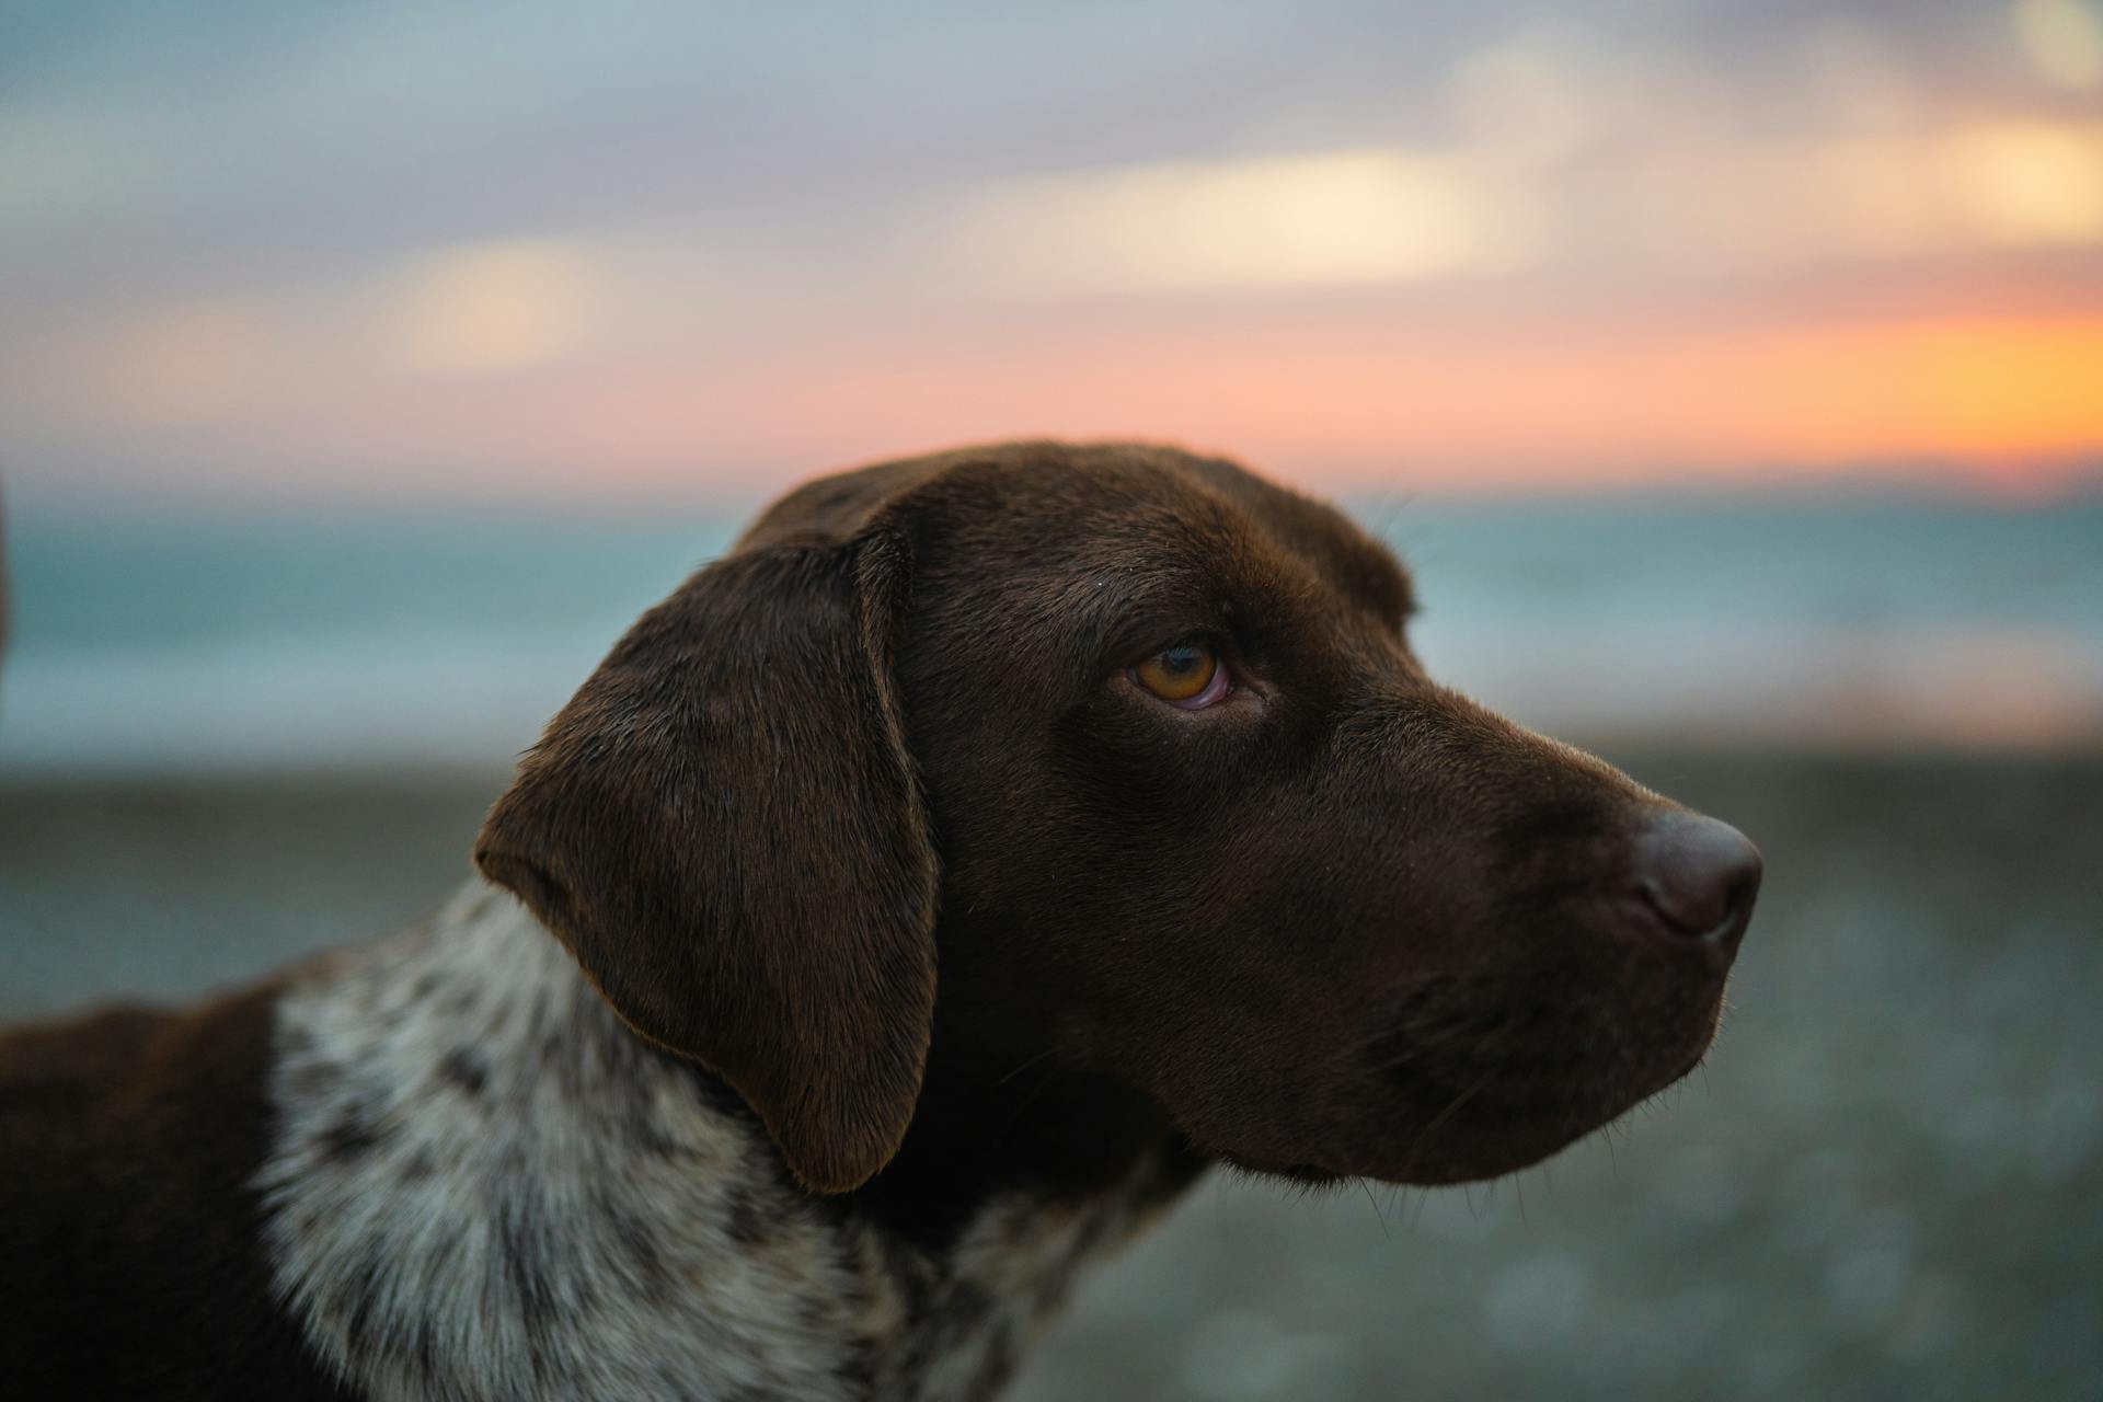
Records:
[[[1613,759],[1767,851],[1706,1070],[1493,1188],[1216,1175],[1014,1398],[2095,1396],[2103,759]],[[393,929],[501,784],[0,784],[0,1015]]]

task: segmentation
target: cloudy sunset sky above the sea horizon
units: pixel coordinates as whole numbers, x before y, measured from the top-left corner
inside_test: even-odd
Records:
[[[0,481],[755,496],[1016,435],[1325,490],[2050,498],[2095,0],[0,0]]]

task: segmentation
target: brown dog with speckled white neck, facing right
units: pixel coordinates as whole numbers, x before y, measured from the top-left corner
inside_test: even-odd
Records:
[[[986,1398],[1207,1169],[1512,1173],[1706,1053],[1756,849],[1434,683],[1224,460],[812,481],[433,919],[0,1040],[15,1398]]]

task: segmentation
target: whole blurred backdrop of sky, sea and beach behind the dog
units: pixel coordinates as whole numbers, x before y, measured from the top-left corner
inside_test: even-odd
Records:
[[[1047,1398],[2103,1377],[2103,4],[0,0],[0,1015],[467,872],[799,477],[1150,437],[1769,855],[1703,1076],[1220,1181]]]

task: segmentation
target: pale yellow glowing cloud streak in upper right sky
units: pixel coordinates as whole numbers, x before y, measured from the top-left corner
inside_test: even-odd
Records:
[[[1546,88],[1544,88],[1546,90]],[[1592,271],[1731,275],[2103,244],[2103,124],[1962,122],[1796,141],[1670,135],[1615,162],[1367,147],[1001,181],[944,267],[995,298]],[[1546,162],[1546,164],[1544,164]]]

